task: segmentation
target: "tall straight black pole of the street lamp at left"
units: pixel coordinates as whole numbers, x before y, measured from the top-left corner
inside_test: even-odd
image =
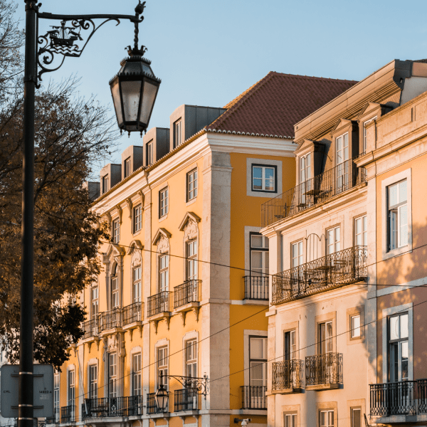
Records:
[[[36,93],[36,1],[25,0],[23,191],[18,427],[33,427],[34,114]]]

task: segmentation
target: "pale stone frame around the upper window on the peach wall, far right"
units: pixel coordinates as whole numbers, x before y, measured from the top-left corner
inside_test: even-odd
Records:
[[[392,251],[387,251],[387,187],[396,182],[406,179],[407,182],[407,206],[408,206],[408,244],[402,246],[401,248],[393,249]],[[411,168],[406,169],[399,174],[390,176],[389,178],[381,181],[381,259],[387,260],[393,258],[397,255],[412,251],[412,177],[411,177]]]

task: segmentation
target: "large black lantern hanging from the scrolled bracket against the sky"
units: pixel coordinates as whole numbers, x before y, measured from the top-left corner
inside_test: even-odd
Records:
[[[147,48],[138,48],[138,24],[142,21],[139,14],[144,11],[144,4],[135,9],[138,21],[135,22],[135,46],[127,48],[129,58],[122,60],[119,73],[110,80],[112,100],[120,131],[144,132],[147,130],[152,115],[154,102],[161,80],[151,68],[151,61],[144,58]]]

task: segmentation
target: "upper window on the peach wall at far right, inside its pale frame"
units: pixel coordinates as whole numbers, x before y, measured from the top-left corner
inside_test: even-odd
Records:
[[[387,187],[389,251],[408,244],[407,181]]]

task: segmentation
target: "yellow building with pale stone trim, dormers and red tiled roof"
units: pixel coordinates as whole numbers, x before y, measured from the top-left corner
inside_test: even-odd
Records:
[[[182,105],[169,128],[149,130],[89,184],[112,241],[100,246],[100,277],[79,296],[85,335],[56,374],[48,423],[266,426],[260,206],[295,184],[287,113],[307,79],[325,86],[269,73],[224,108]],[[326,83],[323,102],[353,84],[337,82]],[[304,106],[299,118],[315,107]],[[264,119],[254,119],[257,109]],[[160,381],[165,411],[154,401]]]

